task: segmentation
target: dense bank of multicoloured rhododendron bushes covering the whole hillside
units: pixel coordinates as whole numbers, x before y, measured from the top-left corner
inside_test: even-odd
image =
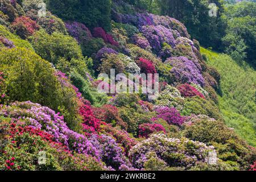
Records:
[[[1,171],[255,169],[255,146],[220,112],[221,76],[184,24],[118,0],[111,20],[73,19],[58,2],[0,0]],[[98,92],[118,89],[122,79],[102,78],[113,69],[135,74],[139,92]],[[143,73],[159,74],[154,99],[135,84]]]

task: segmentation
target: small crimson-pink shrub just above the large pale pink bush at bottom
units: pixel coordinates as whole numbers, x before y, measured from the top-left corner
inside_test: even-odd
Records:
[[[139,137],[148,138],[150,134],[157,133],[159,131],[163,131],[164,133],[166,133],[164,127],[157,123],[143,123],[142,125],[139,125]]]

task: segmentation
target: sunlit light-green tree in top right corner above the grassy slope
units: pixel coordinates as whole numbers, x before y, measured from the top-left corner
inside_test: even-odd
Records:
[[[241,2],[225,6],[222,15],[226,30],[222,41],[225,51],[234,60],[245,58],[255,65],[256,60],[256,3]]]

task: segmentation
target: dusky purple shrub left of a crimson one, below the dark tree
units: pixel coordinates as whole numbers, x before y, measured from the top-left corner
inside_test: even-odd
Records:
[[[77,40],[80,44],[84,45],[92,39],[90,30],[82,23],[79,22],[67,22],[65,27],[68,30],[69,35]]]

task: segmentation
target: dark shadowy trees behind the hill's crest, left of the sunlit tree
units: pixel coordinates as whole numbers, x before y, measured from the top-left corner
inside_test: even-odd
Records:
[[[221,44],[223,11],[222,0],[210,1],[217,5],[217,16],[209,16],[208,0],[158,0],[161,14],[180,20],[192,38],[205,47],[218,48]]]

